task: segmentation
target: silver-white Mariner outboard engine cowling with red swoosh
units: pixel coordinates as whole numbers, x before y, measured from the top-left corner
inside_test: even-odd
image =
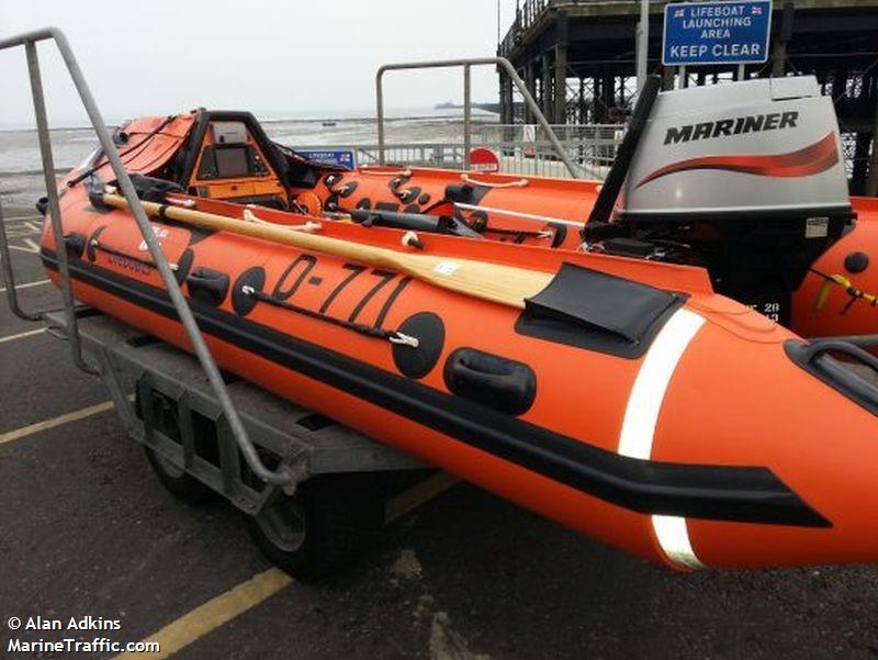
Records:
[[[780,220],[849,209],[832,100],[807,76],[661,92],[617,219]]]

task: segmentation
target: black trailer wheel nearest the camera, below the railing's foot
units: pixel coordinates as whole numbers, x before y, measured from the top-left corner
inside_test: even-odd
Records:
[[[369,547],[384,524],[379,479],[369,473],[323,474],[279,494],[248,527],[272,563],[308,581],[327,575]]]

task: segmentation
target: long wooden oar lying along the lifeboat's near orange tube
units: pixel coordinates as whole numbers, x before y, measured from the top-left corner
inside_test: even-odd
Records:
[[[128,208],[128,202],[125,198],[117,194],[104,194],[103,201],[117,209]],[[553,273],[549,272],[500,266],[486,261],[398,253],[383,247],[373,247],[329,236],[290,232],[282,225],[255,224],[192,209],[169,206],[155,202],[140,203],[148,215],[164,216],[200,227],[292,245],[300,249],[324,253],[342,259],[368,264],[375,268],[397,270],[442,289],[513,307],[522,309],[525,299],[542,291],[554,277]]]

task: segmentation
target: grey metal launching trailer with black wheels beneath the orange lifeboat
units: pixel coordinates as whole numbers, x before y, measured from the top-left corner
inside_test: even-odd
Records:
[[[198,360],[94,310],[77,318],[86,358],[100,367],[123,428],[165,486],[190,504],[222,495],[246,514],[266,556],[299,578],[322,577],[368,547],[393,515],[390,496],[434,471],[226,373],[261,459],[295,476],[292,485],[266,483],[244,460]],[[45,322],[66,336],[63,314]]]

